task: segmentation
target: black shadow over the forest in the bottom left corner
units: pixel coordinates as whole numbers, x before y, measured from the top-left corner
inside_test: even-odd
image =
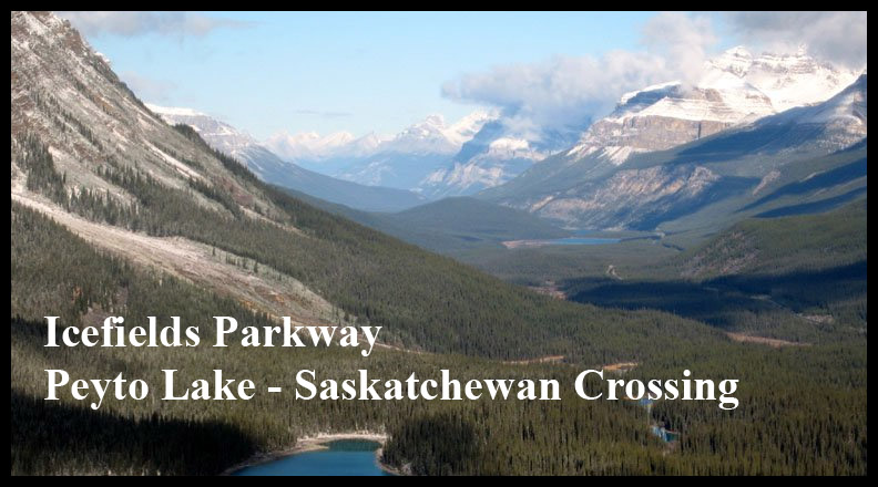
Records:
[[[215,475],[256,449],[247,435],[222,423],[134,419],[14,388],[11,395],[13,475]]]

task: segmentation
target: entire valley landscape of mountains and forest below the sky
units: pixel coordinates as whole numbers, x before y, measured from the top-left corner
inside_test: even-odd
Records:
[[[865,71],[706,65],[560,132],[478,111],[257,141],[12,12],[11,473],[217,475],[359,432],[407,475],[866,474]],[[109,317],[202,344],[44,346]],[[583,400],[586,370],[620,398],[734,380],[735,407],[644,424]],[[346,446],[360,472],[374,446]]]

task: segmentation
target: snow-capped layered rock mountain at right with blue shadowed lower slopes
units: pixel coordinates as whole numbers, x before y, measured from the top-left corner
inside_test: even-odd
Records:
[[[573,227],[644,227],[724,193],[726,178],[705,164],[714,157],[711,151],[727,160],[746,154],[790,159],[865,137],[865,75],[855,81],[857,73],[804,53],[753,55],[734,49],[708,62],[693,86],[671,82],[623,95],[572,148],[481,196]],[[726,133],[732,135],[709,142]],[[672,157],[673,168],[644,168],[649,153],[698,141],[705,141],[704,148]],[[632,164],[637,167],[627,167]],[[758,182],[775,166],[757,157],[723,170]]]

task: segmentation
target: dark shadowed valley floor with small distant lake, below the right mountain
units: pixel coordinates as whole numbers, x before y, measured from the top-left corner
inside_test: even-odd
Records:
[[[511,282],[549,286],[569,300],[661,309],[739,341],[866,333],[865,199],[825,214],[745,219],[682,252],[632,241],[482,249],[459,258]]]

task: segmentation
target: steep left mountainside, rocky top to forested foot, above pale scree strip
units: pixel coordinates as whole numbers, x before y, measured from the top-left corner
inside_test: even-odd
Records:
[[[320,304],[313,315],[367,320],[406,348],[581,358],[598,350],[593,332],[654,320],[551,300],[289,197],[188,126],[174,129],[145,110],[61,20],[17,12],[12,23],[16,201],[115,227],[122,239],[215,248],[221,260],[227,253],[248,272],[290,282],[282,300],[316,294],[330,311]],[[105,250],[111,242],[93,239]],[[186,277],[198,281],[197,271]],[[246,299],[235,287],[222,291]]]

